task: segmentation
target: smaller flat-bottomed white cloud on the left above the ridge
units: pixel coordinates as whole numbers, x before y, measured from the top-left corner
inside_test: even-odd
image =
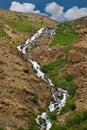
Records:
[[[17,12],[40,13],[39,10],[35,10],[35,5],[32,3],[21,4],[19,2],[13,1],[9,9]]]

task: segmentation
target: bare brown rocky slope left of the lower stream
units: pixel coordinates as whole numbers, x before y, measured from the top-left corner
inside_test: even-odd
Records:
[[[50,89],[17,49],[2,39],[0,46],[0,127],[27,128],[30,117],[47,107]]]

